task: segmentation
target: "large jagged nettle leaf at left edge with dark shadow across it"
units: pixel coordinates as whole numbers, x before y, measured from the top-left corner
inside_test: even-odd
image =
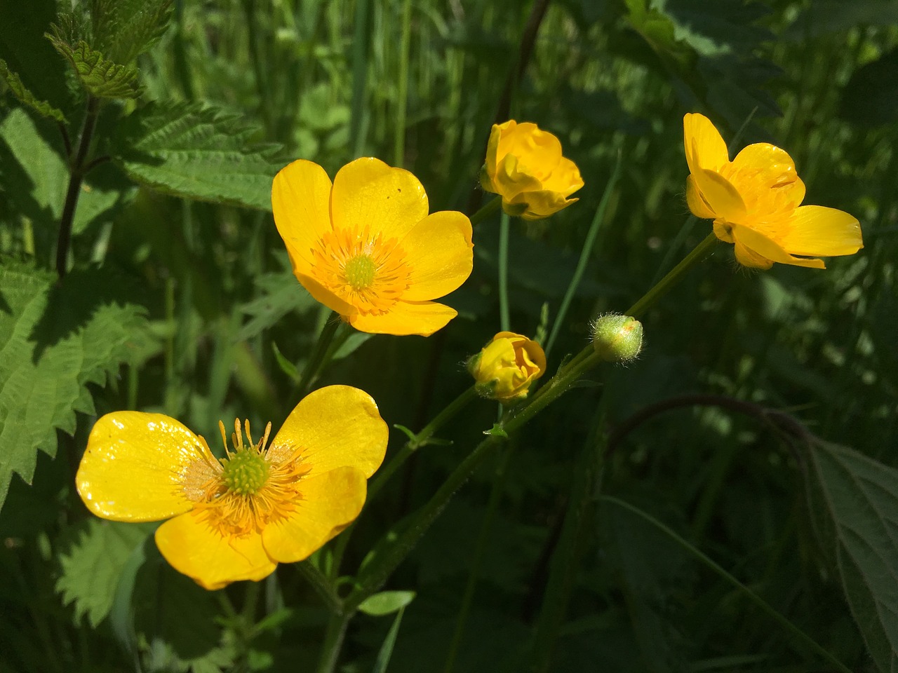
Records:
[[[75,412],[93,413],[87,385],[128,361],[145,310],[122,298],[125,287],[101,269],[57,283],[40,269],[0,267],[0,507],[13,472],[31,484],[37,451],[55,456],[57,429],[72,434]]]

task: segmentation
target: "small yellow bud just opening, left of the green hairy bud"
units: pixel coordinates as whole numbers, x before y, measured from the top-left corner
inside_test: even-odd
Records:
[[[546,371],[542,346],[514,332],[499,332],[468,363],[478,393],[504,404],[527,397],[534,380]]]

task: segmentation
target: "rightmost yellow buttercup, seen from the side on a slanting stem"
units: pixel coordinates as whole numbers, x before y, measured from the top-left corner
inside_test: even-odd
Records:
[[[805,183],[788,153],[755,143],[731,162],[707,117],[693,113],[682,121],[689,209],[714,220],[714,233],[735,244],[740,264],[824,268],[818,257],[851,255],[864,247],[857,218],[835,208],[801,205]]]

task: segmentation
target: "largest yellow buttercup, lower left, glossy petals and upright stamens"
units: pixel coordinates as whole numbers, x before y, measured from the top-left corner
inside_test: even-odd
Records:
[[[266,449],[244,444],[216,459],[202,436],[162,414],[119,411],[93,426],[75,477],[87,508],[103,519],[156,521],[159,551],[206,589],[259,581],[278,563],[311,555],[356,519],[366,479],[387,444],[387,426],[367,393],[315,390]]]

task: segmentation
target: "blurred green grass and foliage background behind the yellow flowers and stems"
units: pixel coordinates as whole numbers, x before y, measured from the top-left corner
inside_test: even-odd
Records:
[[[296,283],[273,226],[268,180],[280,166],[302,157],[333,176],[377,156],[414,172],[432,210],[471,214],[490,124],[534,121],[558,135],[584,176],[580,201],[549,221],[514,223],[510,244],[512,329],[533,335],[543,307],[551,325],[620,155],[621,179],[550,353],[554,371],[585,345],[590,319],[626,309],[708,232],[687,218],[690,111],[727,141],[739,134],[736,149],[786,148],[806,203],[855,214],[865,249],[826,271],[753,273],[719,246],[645,316],[638,361],[595,371],[513,437],[401,565],[389,586],[417,597],[389,670],[441,671],[453,649],[459,671],[832,669],[615,499],[663,521],[849,669],[895,665],[898,616],[881,619],[877,635],[852,606],[858,628],[842,594],[844,559],[827,551],[822,505],[803,478],[814,460],[757,417],[677,398],[788,412],[827,441],[896,464],[898,3],[183,0],[170,11],[168,30],[136,59],[142,89],[101,109],[94,155],[113,161],[82,188],[64,284],[22,270],[53,267],[64,141],[12,92],[0,98],[0,323],[30,315],[33,341],[54,358],[35,360],[33,376],[74,386],[67,404],[40,413],[16,415],[9,389],[0,405],[10,488],[0,670],[313,667],[326,611],[293,567],[262,585],[257,613],[242,612],[246,586],[207,594],[160,560],[147,529],[87,519],[72,488],[96,415],[161,411],[215,436],[219,418],[277,427],[295,405],[295,370],[327,310]],[[56,14],[46,0],[0,0],[0,57],[77,129],[84,94],[43,37]],[[520,63],[528,22],[538,31]],[[191,120],[190,135],[177,135],[172,115]],[[179,143],[188,187],[154,173]],[[199,147],[233,147],[243,163],[191,163]],[[342,333],[319,384],[365,389],[389,424],[413,430],[468,387],[463,361],[499,329],[496,223],[482,223],[474,242],[471,279],[447,300],[458,319],[429,339]],[[31,285],[13,287],[16,274]],[[32,305],[40,288],[44,303]],[[102,354],[73,365],[72,348]],[[4,346],[0,370],[23,353]],[[672,408],[614,434],[659,403]],[[409,461],[366,507],[339,572],[356,572],[495,414],[475,402],[440,433],[450,445]],[[393,431],[391,450],[402,441]],[[19,462],[6,458],[26,444]],[[12,476],[31,481],[30,469],[32,485]],[[602,496],[586,493],[598,483]],[[885,522],[893,539],[896,518]],[[571,536],[576,544],[559,547]],[[322,568],[329,555],[319,555]],[[471,572],[476,592],[453,646]],[[390,625],[359,616],[341,670],[372,670]]]

